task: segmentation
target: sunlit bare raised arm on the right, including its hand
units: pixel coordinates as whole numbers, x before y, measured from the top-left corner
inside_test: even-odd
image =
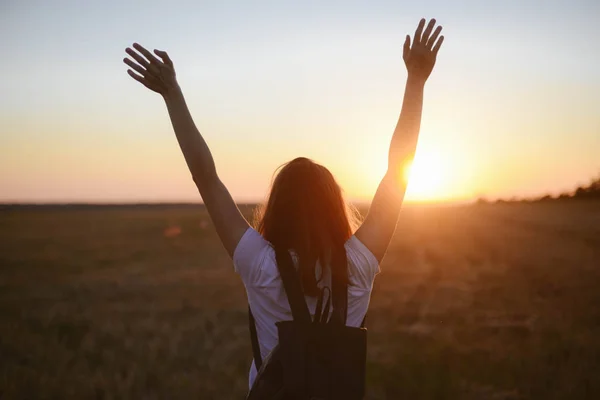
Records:
[[[375,192],[369,213],[356,237],[375,255],[383,259],[392,235],[406,192],[408,182],[404,170],[413,159],[421,127],[423,91],[425,82],[433,70],[437,53],[444,41],[439,36],[442,27],[435,31],[435,19],[425,28],[425,19],[419,22],[415,36],[406,36],[403,49],[404,63],[408,72],[402,111],[394,130],[388,154],[388,169]],[[425,28],[425,31],[423,31]]]

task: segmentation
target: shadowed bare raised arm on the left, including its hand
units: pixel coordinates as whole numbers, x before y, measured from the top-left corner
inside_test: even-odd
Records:
[[[221,242],[233,257],[233,252],[249,225],[217,175],[212,154],[194,124],[177,83],[173,62],[166,52],[154,50],[159,59],[137,43],[133,45],[133,49],[127,48],[125,51],[134,60],[123,59],[131,68],[127,73],[148,89],[162,95],[165,100],[175,136],[192,178]]]

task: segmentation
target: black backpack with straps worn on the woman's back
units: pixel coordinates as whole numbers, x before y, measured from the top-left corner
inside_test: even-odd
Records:
[[[342,248],[343,249],[343,248]],[[346,252],[343,265],[346,263]],[[347,284],[332,279],[323,288],[314,319],[300,278],[287,250],[275,250],[277,268],[285,289],[292,321],[277,322],[278,345],[261,359],[256,325],[248,308],[252,352],[258,374],[247,400],[359,400],[365,394],[367,330],[346,326]],[[325,307],[323,297],[329,292]],[[333,311],[329,316],[330,301]]]

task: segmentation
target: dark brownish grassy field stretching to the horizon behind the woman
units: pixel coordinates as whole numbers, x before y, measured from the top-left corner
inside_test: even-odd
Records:
[[[600,398],[600,203],[406,208],[367,327],[367,399]],[[250,359],[201,207],[0,210],[0,399],[242,399]]]

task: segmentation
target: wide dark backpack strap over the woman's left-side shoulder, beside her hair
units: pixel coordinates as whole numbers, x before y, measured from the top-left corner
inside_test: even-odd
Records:
[[[275,249],[275,258],[277,269],[283,282],[283,288],[292,309],[294,321],[310,323],[310,311],[304,299],[304,293],[302,292],[298,273],[296,272],[296,268],[294,268],[292,256],[287,249]]]

